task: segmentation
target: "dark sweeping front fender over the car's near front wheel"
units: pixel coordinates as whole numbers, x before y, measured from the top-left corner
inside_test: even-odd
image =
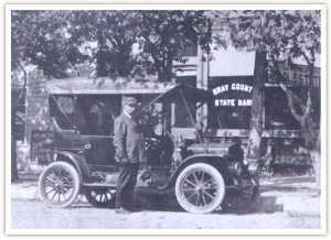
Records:
[[[177,167],[177,170],[171,174],[169,177],[168,183],[160,187],[160,189],[167,189],[174,185],[177,177],[179,174],[189,165],[194,163],[207,163],[212,166],[214,166],[216,170],[218,170],[221,173],[224,173],[226,171],[226,166],[228,165],[228,161],[231,160],[229,156],[220,156],[217,154],[195,154],[186,157],[183,160],[180,165]],[[226,181],[226,179],[225,179]]]

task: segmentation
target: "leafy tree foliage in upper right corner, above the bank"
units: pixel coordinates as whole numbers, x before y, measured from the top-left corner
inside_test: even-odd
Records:
[[[253,46],[276,58],[303,56],[314,63],[320,53],[320,11],[236,11],[237,18],[228,19],[234,46]]]

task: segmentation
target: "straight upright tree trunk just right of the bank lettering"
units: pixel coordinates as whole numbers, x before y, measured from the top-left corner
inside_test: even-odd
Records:
[[[250,116],[250,132],[248,139],[248,157],[259,160],[260,138],[263,132],[264,111],[264,78],[266,68],[266,53],[257,51],[255,55],[253,106]]]

